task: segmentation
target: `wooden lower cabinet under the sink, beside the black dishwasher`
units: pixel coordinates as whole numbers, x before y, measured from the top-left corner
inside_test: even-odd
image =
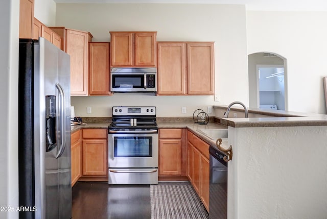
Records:
[[[188,177],[209,211],[209,145],[188,131]]]

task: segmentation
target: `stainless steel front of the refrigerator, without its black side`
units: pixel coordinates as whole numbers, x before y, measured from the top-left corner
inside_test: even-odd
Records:
[[[71,218],[70,59],[52,43],[39,38],[38,60],[39,74],[35,74],[38,77],[34,81],[39,83],[35,86],[39,90],[34,92],[35,103],[39,103],[35,107],[35,124],[39,124],[35,125],[35,133],[39,133],[35,144],[36,218]],[[45,100],[49,95],[56,96],[56,148],[46,152]]]

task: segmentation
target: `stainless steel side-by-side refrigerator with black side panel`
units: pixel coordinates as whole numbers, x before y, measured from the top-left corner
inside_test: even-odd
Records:
[[[70,57],[19,40],[19,218],[72,217]]]

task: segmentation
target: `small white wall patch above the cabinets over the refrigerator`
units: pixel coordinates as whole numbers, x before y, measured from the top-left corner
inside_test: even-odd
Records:
[[[53,0],[34,0],[34,17],[48,27],[55,26],[56,3]]]

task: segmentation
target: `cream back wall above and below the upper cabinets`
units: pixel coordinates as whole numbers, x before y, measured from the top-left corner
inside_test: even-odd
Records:
[[[242,101],[248,105],[245,6],[209,4],[57,4],[56,26],[89,31],[110,41],[109,31],[157,31],[157,41],[215,41],[214,96],[73,97],[78,116],[111,116],[118,105],[154,105],[157,116],[192,116],[195,109]],[[86,114],[86,107],[92,114]],[[188,107],[181,114],[181,107]]]

